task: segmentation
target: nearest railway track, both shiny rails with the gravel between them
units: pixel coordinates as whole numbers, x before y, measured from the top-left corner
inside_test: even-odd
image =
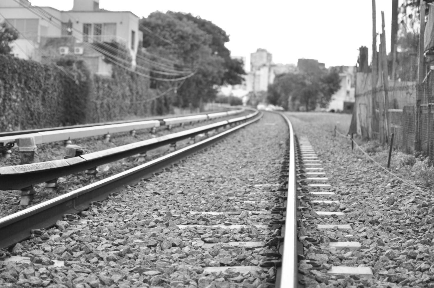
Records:
[[[109,177],[0,219],[0,233],[8,235],[0,243],[5,248],[10,247],[16,255],[15,258],[5,259],[19,263],[31,261],[39,267],[42,262],[52,264],[44,266],[48,271],[58,269],[54,267],[69,271],[70,267],[75,267],[72,268],[76,269],[75,276],[80,275],[71,281],[83,287],[96,285],[96,281],[102,287],[139,287],[138,282],[145,285],[143,287],[207,287],[215,283],[220,285],[216,287],[292,287],[288,285],[297,282],[297,277],[292,276],[297,270],[293,245],[296,226],[286,223],[285,227],[289,228],[281,229],[281,224],[283,219],[288,219],[288,211],[296,211],[290,208],[291,201],[286,203],[286,199],[296,197],[295,178],[289,180],[289,186],[286,181],[286,173],[295,177],[295,167],[287,169],[289,162],[295,163],[295,157],[285,155],[284,144],[289,134],[281,116],[267,113],[261,120],[265,123],[247,126],[256,120],[240,125],[245,128],[224,141],[233,144],[247,141],[254,145],[260,138],[269,147],[255,146],[256,152],[233,149],[232,153],[224,148],[214,152],[219,150],[217,145],[195,154],[191,157],[193,161],[181,160],[206,145],[221,141],[221,135],[217,134],[192,147],[125,171],[122,175]],[[231,134],[240,126],[221,134]],[[253,126],[256,131],[252,130]],[[253,131],[259,134],[257,139],[252,140],[249,135],[252,138]],[[268,136],[264,140],[264,135],[260,134]],[[288,143],[295,147],[294,140]],[[274,148],[271,151],[270,145]],[[276,151],[276,147],[279,153],[272,152]],[[228,155],[222,156],[222,152]],[[259,169],[256,161],[249,160],[249,157],[258,157],[258,153],[264,154],[262,159],[270,158],[270,152],[274,154],[273,161],[263,164],[266,169]],[[181,163],[174,164],[180,160]],[[217,166],[226,165],[225,169],[231,172],[219,171],[210,165],[213,162],[217,162]],[[255,167],[249,170],[249,165]],[[248,175],[244,174],[246,169]],[[207,176],[201,176],[201,173]],[[121,188],[124,188],[122,192]],[[288,192],[292,194],[288,195]],[[102,204],[94,202],[97,200]],[[279,213],[271,213],[276,210]],[[42,236],[14,245],[24,236],[20,231],[53,225],[48,232],[36,231],[36,235],[40,233]],[[96,230],[91,232],[92,229]],[[284,238],[280,238],[282,236]],[[282,239],[288,240],[280,242]],[[145,253],[139,257],[138,251]],[[292,255],[292,258],[282,263],[282,254]],[[53,260],[57,261],[50,262]],[[106,262],[111,269],[118,269],[117,272],[99,271],[101,265],[98,264]],[[288,265],[290,269],[286,268]],[[282,269],[285,271],[282,272]],[[92,276],[95,271],[99,271],[100,276]],[[168,272],[171,272],[170,275]],[[171,276],[173,273],[176,277]],[[49,280],[44,280],[45,276],[40,278],[45,281],[44,284],[65,282],[56,278],[56,273],[48,274],[52,276],[46,278]],[[40,276],[40,273],[35,271],[34,275]],[[17,283],[28,283],[29,278]],[[275,284],[270,284],[276,279]],[[32,280],[39,283],[35,278]]]

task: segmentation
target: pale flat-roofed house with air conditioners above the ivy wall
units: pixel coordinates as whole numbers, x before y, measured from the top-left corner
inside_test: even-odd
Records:
[[[28,0],[1,0],[0,10],[7,23],[20,31],[11,45],[18,58],[50,62],[75,55],[87,62],[91,72],[111,75],[112,65],[104,61],[101,46],[116,54],[120,45],[131,59],[131,64],[125,65],[136,65],[143,35],[138,29],[139,17],[132,12],[100,9],[99,0],[74,0],[70,11],[31,6]],[[97,43],[116,46],[95,47]]]

